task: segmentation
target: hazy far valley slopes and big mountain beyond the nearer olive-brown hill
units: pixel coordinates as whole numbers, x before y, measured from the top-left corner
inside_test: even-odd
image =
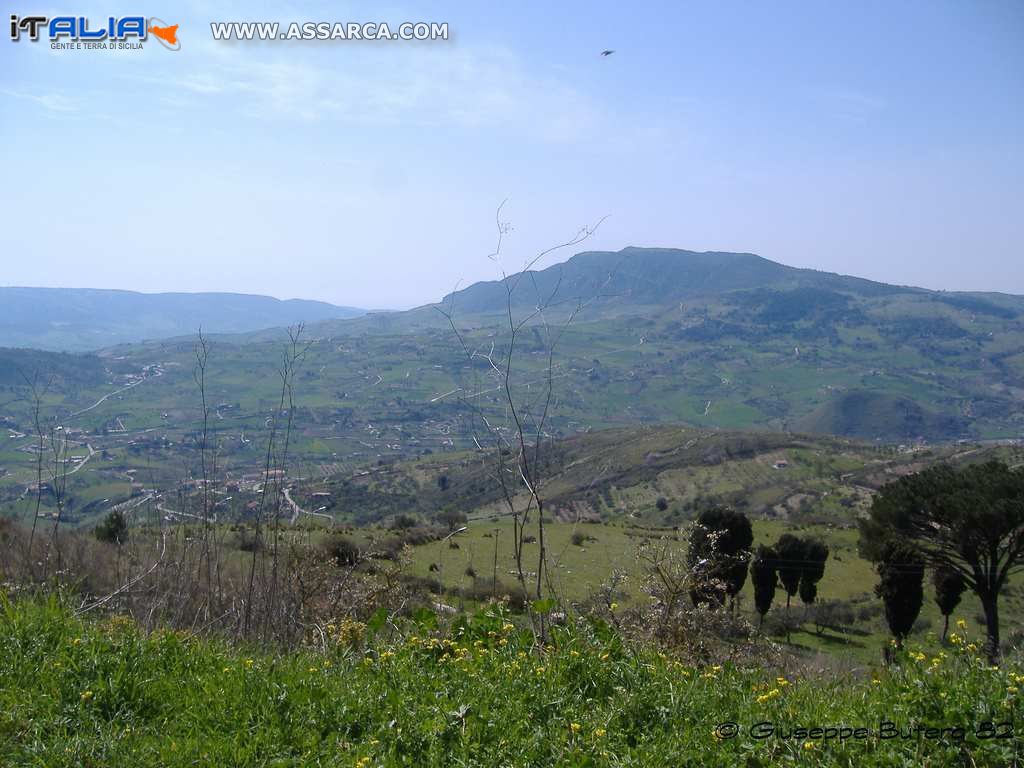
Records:
[[[745,266],[709,266],[726,256]],[[547,281],[589,302],[561,326],[550,360],[545,324],[564,324],[558,302],[515,339],[514,396],[530,402],[551,376],[545,438],[674,424],[835,434],[905,451],[1024,434],[1019,297],[936,294],[753,256],[643,249],[583,254],[539,274],[537,291],[549,290]],[[527,309],[515,311],[528,312],[528,297],[517,296],[513,306]],[[488,355],[507,353],[508,326],[481,313],[494,301],[481,284],[437,306],[305,328],[287,414],[289,475],[330,482],[473,446],[481,416],[506,418]],[[439,309],[454,311],[459,336]],[[209,445],[223,480],[233,482],[259,474],[269,425],[285,416],[279,368],[288,337],[209,340]],[[97,454],[69,482],[73,508],[83,510],[70,521],[89,523],[141,487],[166,493],[195,480],[195,352],[189,337],[85,355],[0,350],[0,511],[25,514],[38,469],[32,381],[44,423],[70,438],[70,461],[77,467]]]

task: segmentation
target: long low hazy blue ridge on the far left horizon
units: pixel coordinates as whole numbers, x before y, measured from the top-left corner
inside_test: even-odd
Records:
[[[195,333],[246,333],[355,317],[322,301],[233,293],[135,293],[76,288],[0,288],[0,346],[59,351]]]

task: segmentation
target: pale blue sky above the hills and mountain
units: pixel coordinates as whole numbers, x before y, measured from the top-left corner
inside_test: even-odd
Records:
[[[0,285],[407,308],[607,217],[540,265],[745,251],[1024,294],[1019,0],[9,12],[156,16],[181,49],[53,51],[4,29]],[[445,22],[451,39],[212,39],[244,20]]]

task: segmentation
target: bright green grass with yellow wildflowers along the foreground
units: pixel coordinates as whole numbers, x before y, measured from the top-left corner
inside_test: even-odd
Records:
[[[600,627],[539,652],[497,610],[431,624],[345,622],[328,652],[270,655],[0,596],[0,765],[1017,765],[1022,670],[959,636],[863,679],[786,679]]]

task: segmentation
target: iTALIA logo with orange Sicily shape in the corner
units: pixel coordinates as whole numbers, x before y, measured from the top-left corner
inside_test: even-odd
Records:
[[[108,16],[93,23],[85,16],[10,16],[10,39],[23,36],[32,42],[40,37],[52,48],[128,48],[139,47],[152,36],[168,50],[181,50],[178,25],[169,25],[156,16]],[[85,45],[83,45],[85,44]]]

